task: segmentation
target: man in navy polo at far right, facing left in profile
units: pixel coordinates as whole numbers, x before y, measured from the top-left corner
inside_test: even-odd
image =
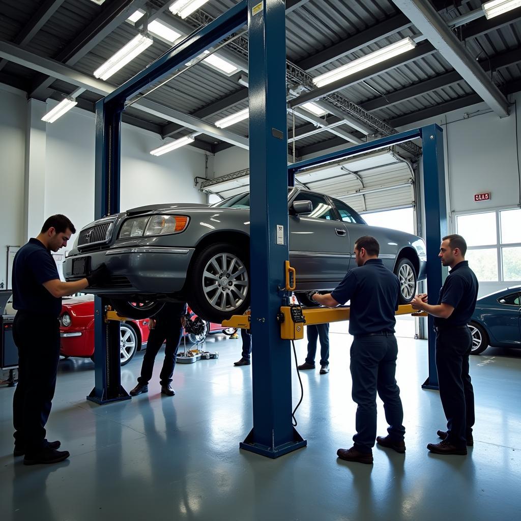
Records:
[[[420,294],[411,302],[415,309],[426,311],[434,318],[436,331],[436,368],[447,430],[439,430],[443,441],[429,443],[427,448],[436,454],[465,455],[467,445],[473,445],[474,389],[468,370],[472,351],[472,334],[468,322],[478,297],[478,280],[465,261],[467,243],[461,235],[447,235],[442,239],[440,253],[443,266],[451,268],[440,290],[438,303],[427,303],[427,295]]]

